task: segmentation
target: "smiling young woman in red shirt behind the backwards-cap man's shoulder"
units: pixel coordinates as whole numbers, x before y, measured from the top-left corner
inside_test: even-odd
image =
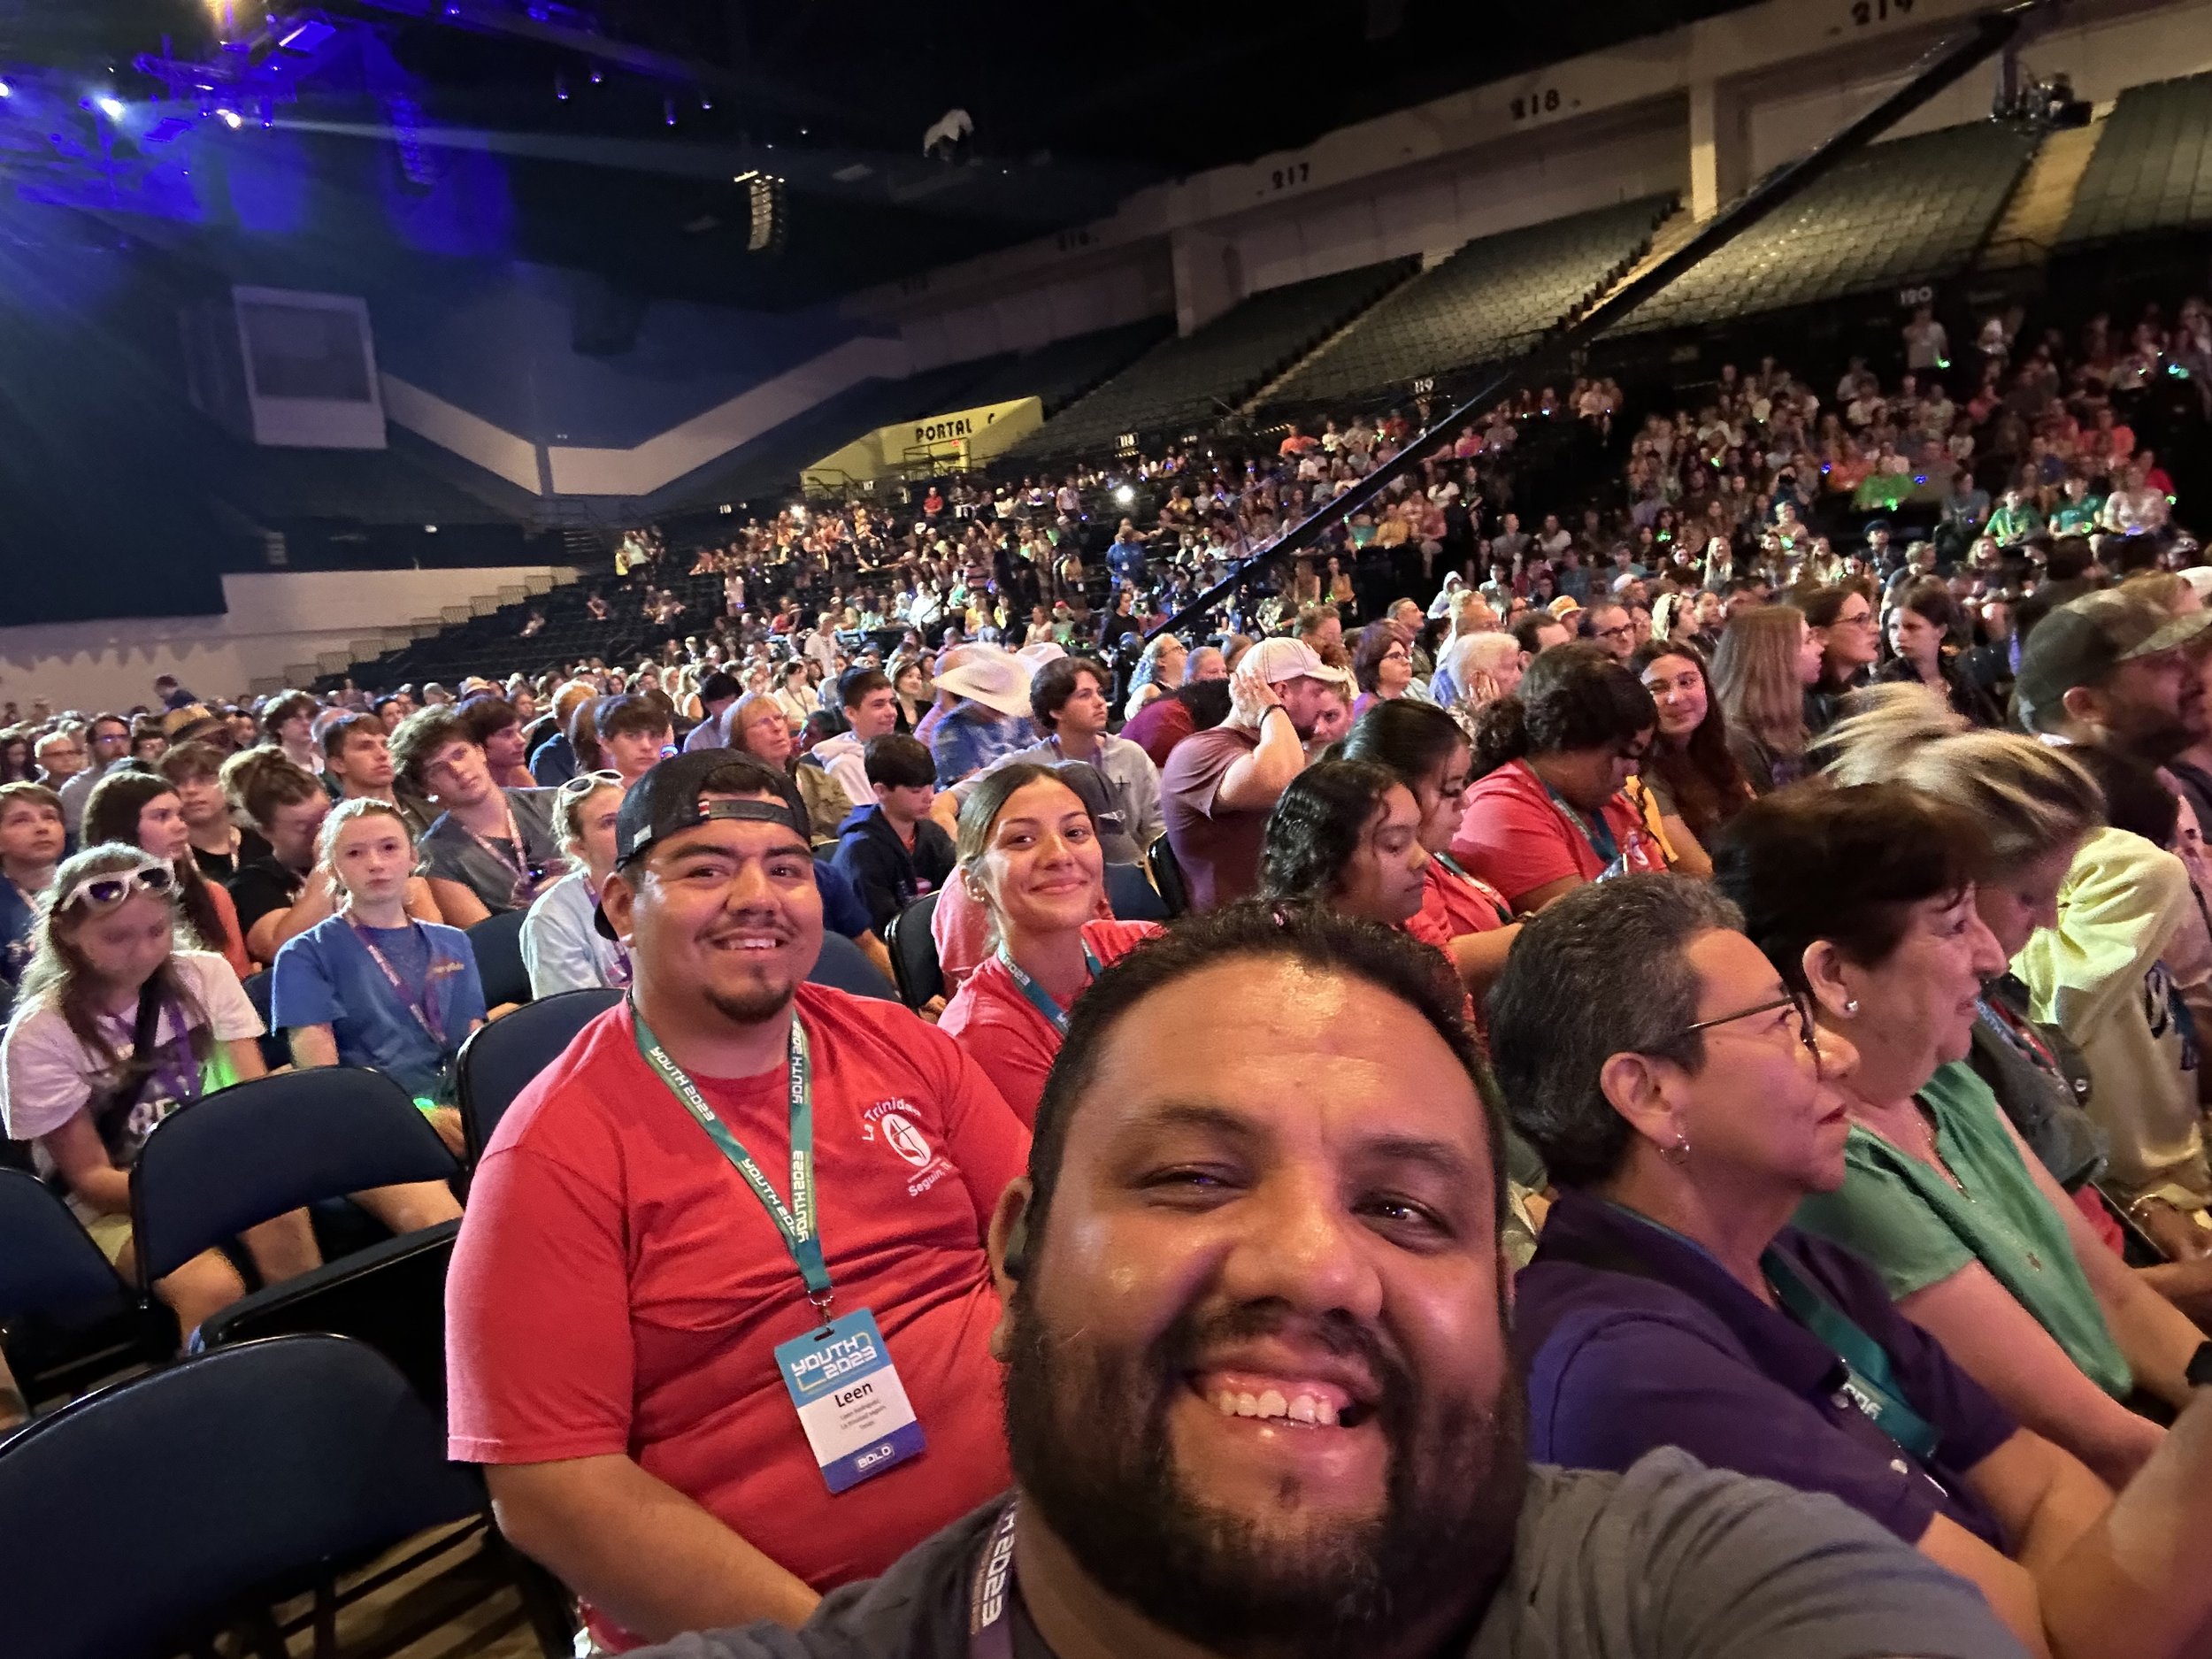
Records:
[[[1091,807],[1053,768],[984,772],[960,807],[960,874],[991,916],[995,947],[938,1020],[1029,1124],[1068,1009],[1099,969],[1159,931],[1099,920],[1106,856]]]

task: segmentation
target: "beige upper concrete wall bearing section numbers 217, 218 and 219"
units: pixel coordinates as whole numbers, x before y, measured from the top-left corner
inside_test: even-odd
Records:
[[[1188,332],[1221,307],[1221,243],[1250,294],[1655,190],[1697,186],[1710,212],[1865,111],[1989,4],[1767,0],[1137,190],[1088,226],[856,294],[845,310],[896,325],[916,363],[933,365],[1035,345],[1037,321],[1053,327],[1042,338],[1124,314],[1175,314]],[[2090,100],[2197,73],[2212,64],[2212,4],[2075,0],[2026,62],[2068,71]],[[1995,66],[1975,71],[1896,135],[1984,117],[1993,86]],[[1166,294],[1146,285],[1161,263]],[[1024,310],[1035,294],[1057,299]],[[1139,296],[1144,310],[1128,312]],[[1015,314],[1022,330],[1006,327]]]

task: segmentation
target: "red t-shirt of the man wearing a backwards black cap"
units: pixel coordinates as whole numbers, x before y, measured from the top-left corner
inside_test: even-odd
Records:
[[[626,1004],[522,1091],[484,1148],[447,1283],[447,1420],[467,1462],[635,1458],[827,1590],[1009,1484],[982,1237],[1029,1130],[951,1037],[896,1004],[803,984],[799,1018],[836,1312],[874,1312],[927,1451],[830,1495],[772,1354],[816,1325],[799,1270],[637,1053]],[[695,1082],[783,1190],[785,1068]],[[637,1646],[604,1617],[593,1628]]]

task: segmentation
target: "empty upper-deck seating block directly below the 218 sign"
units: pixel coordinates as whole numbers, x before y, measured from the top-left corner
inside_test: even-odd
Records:
[[[1619,279],[1672,201],[1639,197],[1469,241],[1376,301],[1267,394],[1270,409],[1402,392],[1420,374],[1517,356]]]

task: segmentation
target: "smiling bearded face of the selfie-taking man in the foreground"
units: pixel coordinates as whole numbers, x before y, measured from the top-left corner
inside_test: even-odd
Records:
[[[1489,1128],[1398,998],[1279,958],[1139,1002],[1000,1290],[1015,1480],[1155,1621],[1407,1628],[1506,1548],[1524,1438]]]

